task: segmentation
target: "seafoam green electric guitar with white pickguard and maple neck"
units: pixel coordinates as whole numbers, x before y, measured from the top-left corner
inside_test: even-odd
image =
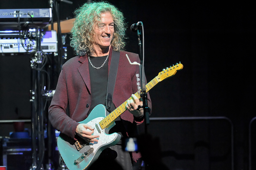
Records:
[[[181,63],[176,63],[174,66],[170,66],[170,68],[163,69],[153,80],[146,84],[146,92],[152,89],[158,82],[173,76],[178,70],[181,70],[183,65]],[[140,94],[136,92],[138,98],[140,98]],[[131,100],[130,97],[127,100]],[[84,170],[90,164],[92,164],[100,155],[100,153],[110,147],[117,144],[121,135],[118,133],[108,134],[109,129],[111,129],[115,124],[115,119],[120,116],[126,110],[127,100],[117,107],[113,112],[109,113],[106,116],[106,108],[104,105],[99,104],[89,116],[79,122],[86,123],[92,127],[94,127],[93,135],[99,135],[99,141],[92,143],[86,143],[82,138],[75,141],[74,139],[68,137],[60,133],[57,141],[58,149],[60,151],[60,156],[65,162],[66,166],[69,170]],[[89,130],[89,129],[88,129]]]

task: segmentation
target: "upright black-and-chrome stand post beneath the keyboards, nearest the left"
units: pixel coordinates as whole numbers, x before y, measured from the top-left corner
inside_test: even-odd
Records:
[[[43,87],[42,87],[42,59],[41,51],[41,29],[36,32],[36,54],[31,60],[32,69],[32,169],[38,170],[42,167],[44,159],[44,111],[43,111]],[[36,147],[40,146],[40,147]]]

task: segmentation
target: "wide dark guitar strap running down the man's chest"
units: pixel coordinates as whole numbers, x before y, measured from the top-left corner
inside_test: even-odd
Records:
[[[113,94],[114,94],[114,88],[116,84],[116,75],[117,75],[117,69],[119,64],[119,58],[120,58],[120,52],[112,50],[109,75],[108,75],[107,95],[106,95],[106,101],[105,101],[106,109],[109,113],[111,112],[111,106],[113,103]]]

